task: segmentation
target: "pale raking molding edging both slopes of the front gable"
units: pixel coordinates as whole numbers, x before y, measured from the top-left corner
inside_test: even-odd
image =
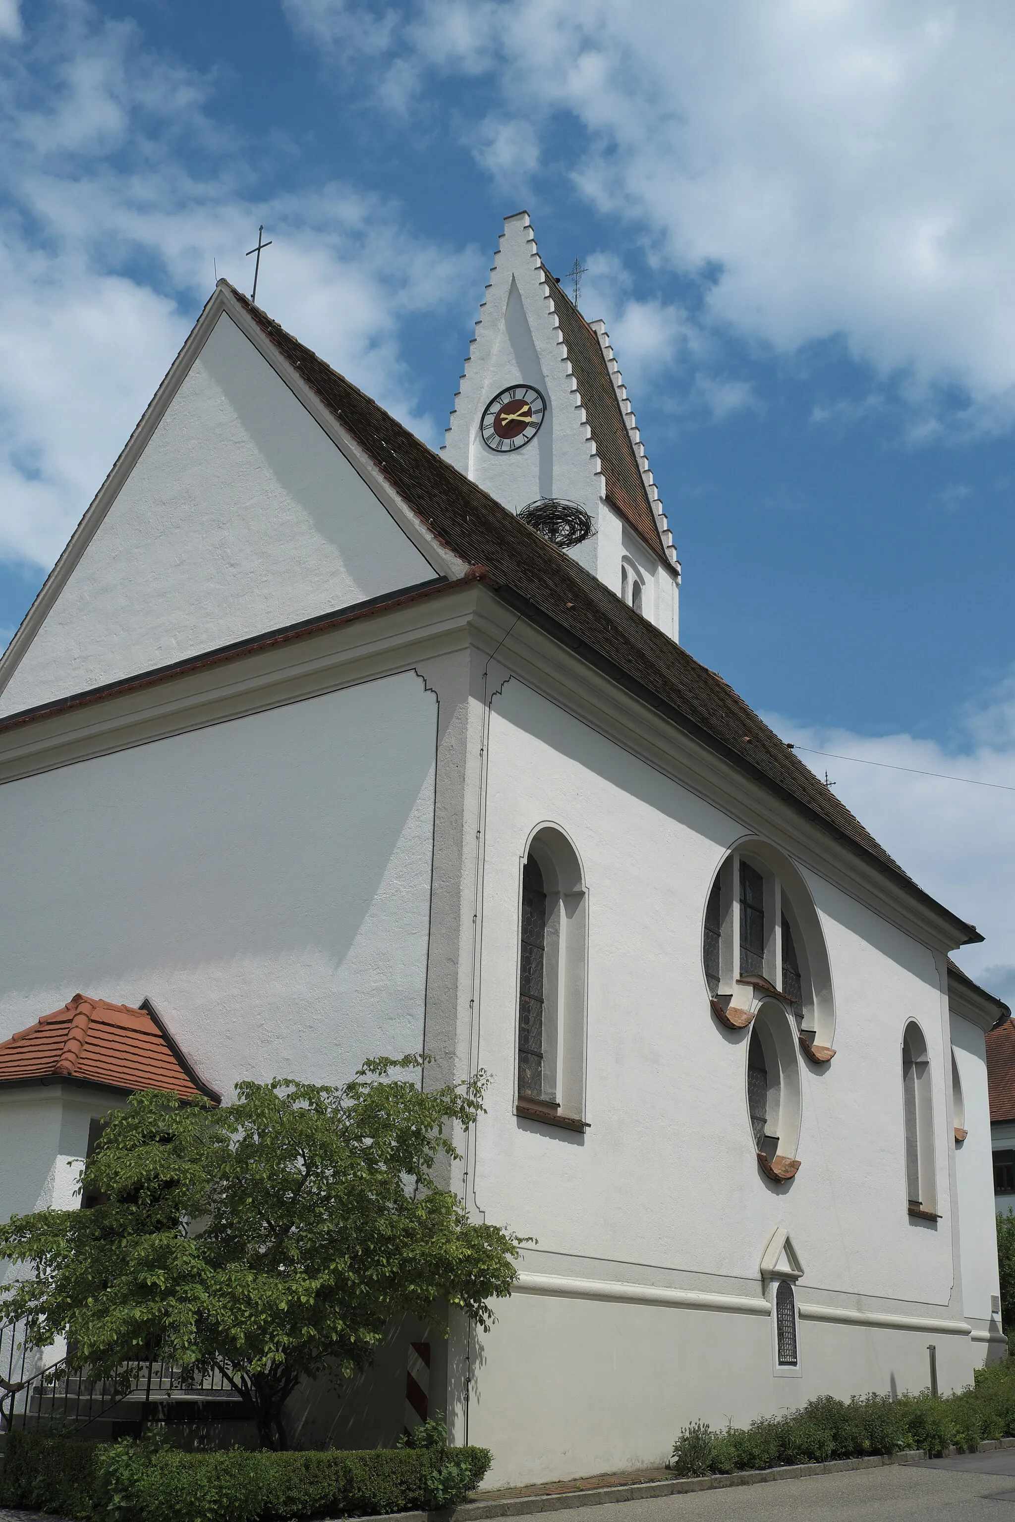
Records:
[[[59,594],[67,586],[67,581],[70,580],[70,575],[85,549],[102,527],[107,513],[123,490],[125,482],[148,447],[155,429],[161,423],[173,397],[177,396],[177,391],[186,380],[190,368],[199,358],[201,350],[222,315],[227,315],[233,323],[236,323],[243,336],[250,339],[260,356],[271,365],[275,374],[313,417],[332,443],[341,451],[356,473],[362,476],[385,510],[391,514],[391,517],[394,517],[399,528],[402,528],[420,554],[434,566],[437,574],[453,580],[463,575],[467,569],[461,557],[455,556],[449,546],[431,533],[426,524],[414,511],[411,511],[411,508],[402,501],[402,498],[380,473],[371,457],[367,455],[367,452],[339,425],[330,409],[306,384],[303,376],[294,370],[271,339],[262,332],[250,312],[240,306],[228,283],[225,280],[219,280],[210,298],[204,304],[198,321],[190,329],[183,349],[166,371],[155,396],[145,408],[134,432],[120,451],[113,469],[99,487],[96,496],[67,540],[56,565],[43,583],[35,601],[21,619],[11,644],[5,650],[3,656],[0,656],[0,693],[3,693],[8,682],[17,671],[43,621],[53,607]]]

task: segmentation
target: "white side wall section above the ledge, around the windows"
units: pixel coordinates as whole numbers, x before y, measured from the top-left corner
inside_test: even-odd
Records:
[[[750,1282],[784,1224],[807,1283],[947,1306],[950,1116],[931,953],[810,878],[835,980],[837,1056],[802,1067],[802,1167],[788,1189],[768,1184],[744,1100],[747,1033],[717,1026],[702,973],[708,887],[743,828],[517,680],[493,705],[487,808],[479,1061],[496,1079],[478,1142],[481,1207],[534,1233],[542,1251]],[[519,857],[540,820],[569,834],[589,884],[584,1142],[511,1114]],[[905,1208],[910,1018],[934,1061],[943,1219],[930,1230]]]

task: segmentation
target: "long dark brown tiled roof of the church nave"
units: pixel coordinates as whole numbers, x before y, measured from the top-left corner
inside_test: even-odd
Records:
[[[835,793],[721,676],[627,607],[571,556],[540,539],[313,350],[251,306],[245,295],[234,289],[233,295],[399,496],[460,559],[484,566],[501,597],[744,772],[772,785],[925,904],[950,915],[963,939],[982,939],[972,925],[942,909],[913,883]]]

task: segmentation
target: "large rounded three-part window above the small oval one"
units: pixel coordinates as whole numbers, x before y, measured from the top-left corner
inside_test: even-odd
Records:
[[[825,936],[810,889],[775,846],[746,840],[727,854],[705,907],[702,960],[712,1011],[733,1029],[776,995],[813,1062],[834,1055],[835,1009]]]

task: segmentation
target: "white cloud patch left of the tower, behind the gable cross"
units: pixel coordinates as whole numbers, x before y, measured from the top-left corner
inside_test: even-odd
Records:
[[[243,145],[208,120],[208,81],[78,0],[62,18],[0,58],[0,557],[53,562],[210,295],[213,259],[250,289],[260,221],[266,309],[437,435],[399,329],[481,285],[484,262],[422,244],[347,186],[256,201]],[[216,167],[190,167],[212,145]]]

